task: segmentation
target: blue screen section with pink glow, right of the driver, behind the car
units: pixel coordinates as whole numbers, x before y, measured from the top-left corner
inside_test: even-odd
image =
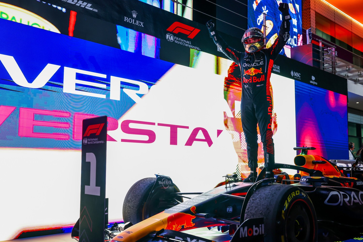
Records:
[[[296,143],[311,155],[348,159],[347,96],[295,81]]]

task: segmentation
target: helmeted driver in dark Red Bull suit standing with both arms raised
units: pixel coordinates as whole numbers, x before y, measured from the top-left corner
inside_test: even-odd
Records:
[[[247,143],[249,176],[244,182],[255,182],[257,177],[257,123],[264,148],[265,178],[273,178],[274,143],[272,139],[272,98],[270,76],[273,62],[290,37],[289,5],[280,3],[282,23],[277,39],[270,48],[265,49],[264,34],[258,28],[249,28],[242,37],[245,52],[230,47],[217,33],[212,20],[207,22],[209,36],[220,50],[236,62],[242,73],[241,121]]]

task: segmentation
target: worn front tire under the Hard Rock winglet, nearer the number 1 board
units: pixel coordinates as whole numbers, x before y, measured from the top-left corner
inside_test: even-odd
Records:
[[[125,222],[136,224],[183,202],[183,198],[171,195],[160,186],[152,190],[155,181],[156,177],[148,177],[131,186],[123,202],[122,215]],[[176,185],[174,192],[180,192]]]

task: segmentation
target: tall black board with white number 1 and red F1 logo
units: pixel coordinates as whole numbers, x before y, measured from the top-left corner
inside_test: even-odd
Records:
[[[107,116],[84,119],[82,134],[79,240],[99,242],[105,238]]]

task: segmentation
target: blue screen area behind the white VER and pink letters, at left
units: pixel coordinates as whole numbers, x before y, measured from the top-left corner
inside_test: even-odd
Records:
[[[107,115],[116,129],[174,65],[8,20],[0,26],[0,147],[80,149],[83,118]]]

